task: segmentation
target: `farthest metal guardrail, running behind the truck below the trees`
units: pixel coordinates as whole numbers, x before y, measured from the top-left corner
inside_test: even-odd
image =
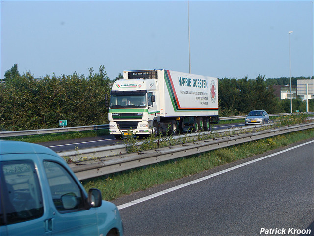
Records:
[[[313,112],[308,113],[292,113],[292,114],[313,114]],[[291,113],[282,114],[269,114],[269,116],[285,116],[291,115]],[[219,120],[236,120],[244,119],[246,116],[229,116],[229,117],[219,117]],[[101,130],[109,129],[109,125],[91,125],[91,126],[76,126],[76,127],[66,127],[66,128],[52,128],[52,129],[41,129],[41,130],[26,130],[26,131],[1,131],[0,137],[18,137],[27,135],[38,135],[38,134],[51,134],[51,133],[63,133],[63,132],[74,132],[74,131],[91,131],[91,130]]]

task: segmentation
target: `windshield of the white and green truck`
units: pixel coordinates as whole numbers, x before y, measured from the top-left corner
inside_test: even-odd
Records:
[[[146,94],[111,94],[110,108],[144,108],[146,107]]]

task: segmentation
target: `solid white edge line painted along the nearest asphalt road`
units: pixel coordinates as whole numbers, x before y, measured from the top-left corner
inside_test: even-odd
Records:
[[[217,172],[217,173],[213,173],[213,174],[210,174],[210,175],[208,175],[208,176],[204,176],[204,177],[202,177],[202,178],[199,178],[199,179],[196,179],[196,180],[187,182],[187,183],[185,183],[185,184],[180,184],[180,185],[178,185],[178,186],[165,189],[165,190],[163,190],[163,191],[160,191],[160,192],[151,194],[151,195],[149,195],[149,196],[136,199],[136,200],[131,201],[131,202],[129,202],[129,203],[125,203],[125,204],[119,205],[119,206],[118,206],[118,209],[121,210],[121,209],[130,207],[130,206],[133,206],[133,205],[135,205],[135,204],[138,204],[138,203],[141,203],[141,202],[145,202],[145,201],[147,201],[147,200],[150,200],[150,199],[152,199],[152,198],[156,198],[156,197],[161,196],[161,195],[163,195],[163,194],[166,194],[166,193],[175,191],[175,190],[177,190],[177,189],[180,189],[180,188],[189,186],[189,185],[191,185],[191,184],[196,184],[196,183],[201,182],[201,181],[203,181],[203,180],[208,180],[209,178],[212,178],[212,177],[215,177],[215,176],[224,174],[224,173],[226,173],[226,172],[235,170],[235,169],[237,169],[237,168],[240,168],[240,167],[243,167],[243,166],[252,164],[252,163],[254,163],[254,162],[257,162],[257,161],[260,161],[260,160],[263,160],[263,159],[266,159],[266,158],[269,158],[269,157],[276,156],[276,155],[281,154],[281,153],[288,152],[288,151],[290,151],[290,150],[293,150],[293,149],[302,147],[302,146],[307,145],[307,144],[309,144],[309,143],[313,143],[313,140],[312,140],[312,141],[309,141],[309,142],[306,142],[306,143],[303,143],[303,144],[300,144],[300,145],[297,145],[297,146],[294,146],[294,147],[291,147],[291,148],[288,148],[288,149],[285,149],[285,150],[280,151],[280,152],[277,152],[277,153],[270,154],[270,155],[265,156],[265,157],[260,157],[260,158],[255,159],[255,160],[251,160],[251,161],[248,161],[248,162],[246,162],[246,163],[243,163],[243,164],[240,164],[240,165],[236,165],[236,166],[234,166],[234,167],[231,167],[231,168],[228,168],[228,169],[219,171],[219,172]]]

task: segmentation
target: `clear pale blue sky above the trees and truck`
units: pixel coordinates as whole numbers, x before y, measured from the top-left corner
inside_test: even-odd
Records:
[[[101,65],[110,79],[189,65],[218,78],[311,77],[313,2],[1,0],[0,78],[14,64],[35,78]]]

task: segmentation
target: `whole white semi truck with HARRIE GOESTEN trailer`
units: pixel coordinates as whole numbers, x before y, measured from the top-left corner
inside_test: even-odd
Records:
[[[164,69],[124,71],[123,79],[112,86],[109,132],[117,139],[187,129],[209,131],[218,120],[215,77]]]

